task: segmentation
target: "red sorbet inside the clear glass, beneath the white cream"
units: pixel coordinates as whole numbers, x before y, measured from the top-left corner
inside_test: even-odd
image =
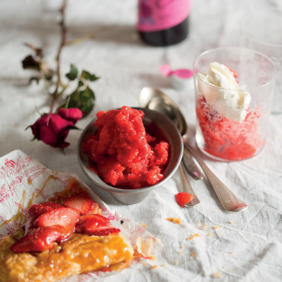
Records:
[[[221,116],[201,95],[197,100],[196,113],[204,137],[204,150],[215,157],[248,159],[263,145],[257,133],[257,120],[261,116],[259,106],[249,111],[240,123]]]

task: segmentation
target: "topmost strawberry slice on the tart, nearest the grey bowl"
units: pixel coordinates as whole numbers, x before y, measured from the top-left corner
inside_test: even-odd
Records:
[[[63,202],[63,206],[77,209],[81,215],[102,214],[102,210],[99,208],[97,202],[94,202],[92,197],[85,191],[79,192],[66,199]]]

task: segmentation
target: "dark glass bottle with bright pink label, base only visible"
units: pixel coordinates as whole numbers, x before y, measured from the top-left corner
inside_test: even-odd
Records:
[[[189,32],[192,0],[139,0],[137,30],[153,46],[183,41]]]

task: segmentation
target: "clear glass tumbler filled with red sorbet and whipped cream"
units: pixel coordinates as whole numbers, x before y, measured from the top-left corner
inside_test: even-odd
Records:
[[[210,85],[199,73],[208,73],[217,62],[238,73],[241,90]],[[259,154],[266,141],[276,66],[264,54],[237,47],[204,51],[193,64],[196,95],[196,142],[204,154],[220,161],[248,159]],[[226,87],[227,88],[227,87]],[[234,120],[224,97],[248,92],[250,104]],[[227,104],[226,104],[227,103]],[[241,109],[241,108],[239,108]],[[236,112],[237,113],[237,112]]]

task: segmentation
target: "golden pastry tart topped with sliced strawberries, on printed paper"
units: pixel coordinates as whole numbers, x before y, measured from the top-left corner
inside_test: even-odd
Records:
[[[32,204],[25,226],[0,242],[1,282],[53,282],[89,271],[120,271],[134,250],[83,188]]]

